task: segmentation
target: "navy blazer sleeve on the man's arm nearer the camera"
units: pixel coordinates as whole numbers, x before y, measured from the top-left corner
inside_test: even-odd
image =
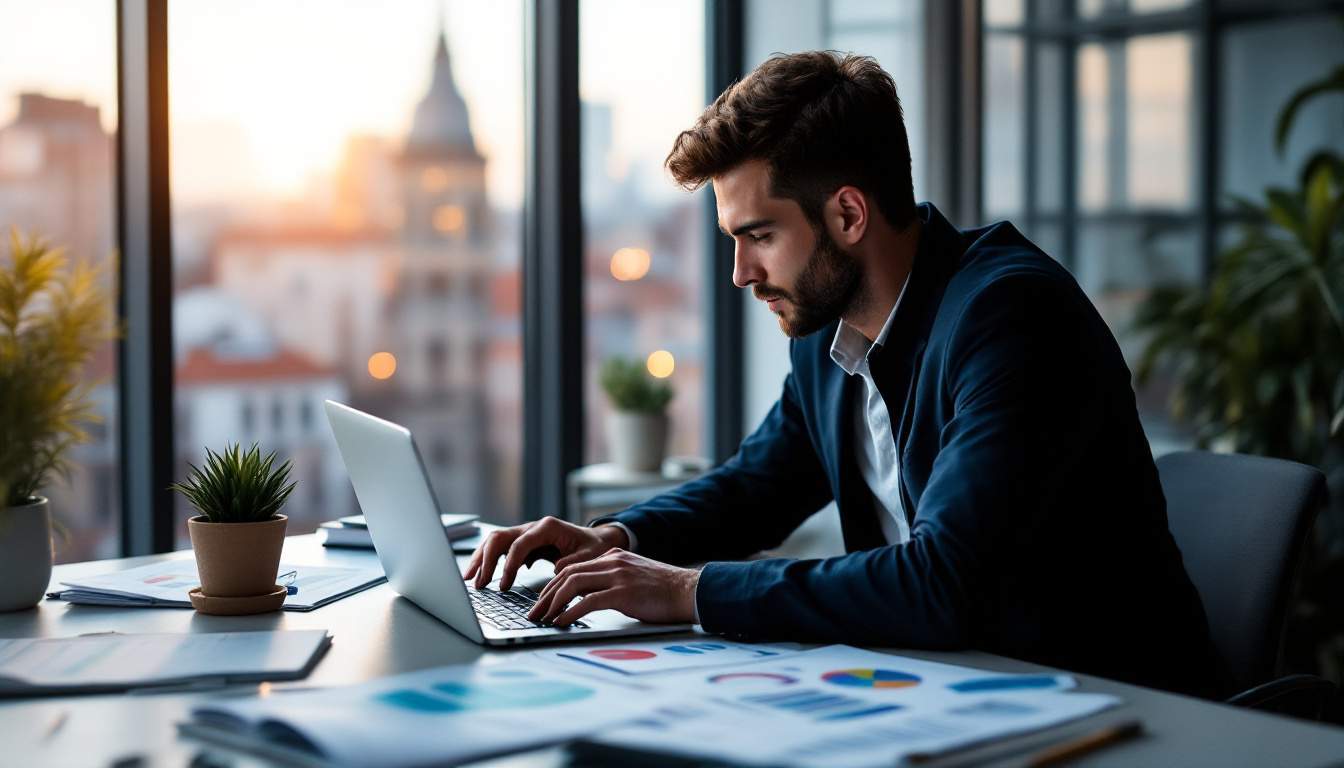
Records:
[[[702,625],[753,639],[969,644],[986,582],[1012,578],[1015,535],[1040,522],[1042,495],[1091,424],[1094,404],[1078,393],[1095,387],[1062,373],[1085,364],[1077,347],[1060,348],[1079,324],[1060,315],[1068,304],[1051,282],[996,280],[956,323],[942,360],[954,410],[907,542],[825,560],[711,562],[696,593]]]

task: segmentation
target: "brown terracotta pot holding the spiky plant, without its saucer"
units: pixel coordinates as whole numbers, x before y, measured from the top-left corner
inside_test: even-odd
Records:
[[[259,523],[212,523],[204,515],[187,521],[200,590],[210,597],[274,592],[286,522],[285,515]]]

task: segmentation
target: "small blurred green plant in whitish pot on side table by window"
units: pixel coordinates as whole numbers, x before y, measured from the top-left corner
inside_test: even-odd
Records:
[[[612,460],[629,472],[657,472],[668,444],[667,406],[672,386],[656,381],[636,360],[610,358],[602,363],[602,389],[612,401],[606,443]]]

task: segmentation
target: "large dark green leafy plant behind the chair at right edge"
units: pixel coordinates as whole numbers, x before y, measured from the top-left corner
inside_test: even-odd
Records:
[[[1308,101],[1344,95],[1344,66],[1298,89],[1278,116],[1282,153]],[[1340,126],[1344,132],[1344,125]],[[1344,133],[1341,133],[1344,135]],[[1234,199],[1241,237],[1207,285],[1153,291],[1137,377],[1173,379],[1172,414],[1199,447],[1320,467],[1331,504],[1306,553],[1289,631],[1294,668],[1344,679],[1344,157],[1310,155],[1296,188]]]

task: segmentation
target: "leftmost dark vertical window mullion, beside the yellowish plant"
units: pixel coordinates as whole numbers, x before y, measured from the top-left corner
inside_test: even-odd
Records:
[[[121,550],[173,546],[168,0],[117,4]]]

